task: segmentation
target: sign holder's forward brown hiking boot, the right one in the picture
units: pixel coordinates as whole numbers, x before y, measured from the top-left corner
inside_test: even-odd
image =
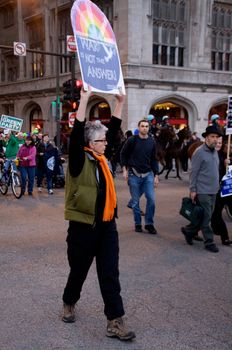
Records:
[[[121,317],[115,318],[112,321],[107,321],[106,336],[118,338],[120,340],[132,340],[135,338],[135,333],[128,331]]]

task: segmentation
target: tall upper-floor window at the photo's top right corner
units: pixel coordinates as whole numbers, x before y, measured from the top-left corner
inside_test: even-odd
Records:
[[[217,4],[212,13],[211,68],[231,71],[232,6]]]

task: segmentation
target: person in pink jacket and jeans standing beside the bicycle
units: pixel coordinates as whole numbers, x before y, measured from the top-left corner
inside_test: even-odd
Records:
[[[22,194],[25,193],[28,180],[28,195],[31,196],[36,167],[36,147],[31,136],[26,137],[25,143],[19,148],[17,158],[19,158],[19,169],[22,178]]]

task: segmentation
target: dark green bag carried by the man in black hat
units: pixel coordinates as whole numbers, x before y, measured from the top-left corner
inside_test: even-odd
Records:
[[[197,203],[193,203],[189,197],[182,198],[180,215],[189,220],[191,224],[200,226],[204,216],[204,209]]]

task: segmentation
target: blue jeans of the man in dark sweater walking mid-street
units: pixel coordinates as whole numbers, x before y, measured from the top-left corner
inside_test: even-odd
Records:
[[[140,197],[145,194],[147,204],[145,212],[145,225],[154,224],[155,215],[155,191],[154,175],[151,171],[145,177],[138,177],[130,170],[128,174],[128,185],[132,199],[132,209],[134,214],[135,225],[141,225],[141,213],[139,207]]]

